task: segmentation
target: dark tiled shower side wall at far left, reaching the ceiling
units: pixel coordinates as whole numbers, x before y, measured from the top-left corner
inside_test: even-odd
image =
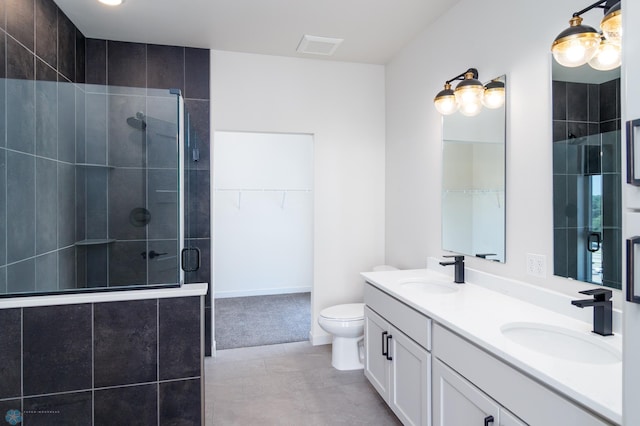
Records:
[[[1,4],[0,293],[66,288],[75,285],[68,188],[85,40],[53,0]]]

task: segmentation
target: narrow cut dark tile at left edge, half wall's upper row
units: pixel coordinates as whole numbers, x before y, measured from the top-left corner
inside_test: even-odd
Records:
[[[22,370],[22,310],[0,310],[0,399],[19,397]],[[19,408],[19,406],[18,406]],[[0,411],[5,413],[6,411]]]

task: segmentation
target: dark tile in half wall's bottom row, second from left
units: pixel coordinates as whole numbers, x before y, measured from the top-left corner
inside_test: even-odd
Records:
[[[93,395],[74,392],[24,399],[25,426],[91,425]]]

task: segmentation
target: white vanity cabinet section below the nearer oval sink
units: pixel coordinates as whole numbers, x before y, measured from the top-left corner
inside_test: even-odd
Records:
[[[439,324],[432,353],[434,426],[610,424]]]

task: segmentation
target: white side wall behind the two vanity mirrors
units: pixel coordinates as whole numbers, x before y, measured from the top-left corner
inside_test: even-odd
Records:
[[[583,1],[461,0],[386,67],[386,261],[401,268],[441,256],[441,117],[433,97],[470,67],[507,75],[506,263],[471,267],[575,294],[587,284],[553,277],[550,47]],[[602,13],[585,14],[598,26]],[[546,256],[547,279],[526,274]],[[616,296],[619,301],[619,295]]]

